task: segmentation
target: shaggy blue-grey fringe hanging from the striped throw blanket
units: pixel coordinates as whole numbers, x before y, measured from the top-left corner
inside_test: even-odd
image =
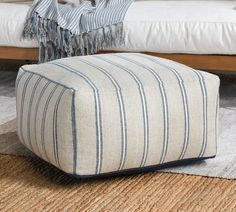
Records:
[[[39,42],[39,63],[64,57],[91,55],[99,50],[124,44],[123,23],[104,26],[73,35],[55,21],[44,19],[34,12],[26,20],[23,38]]]

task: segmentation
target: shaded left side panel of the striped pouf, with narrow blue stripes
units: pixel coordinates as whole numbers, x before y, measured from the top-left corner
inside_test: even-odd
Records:
[[[73,173],[74,93],[40,74],[20,69],[16,80],[17,133],[22,144]]]

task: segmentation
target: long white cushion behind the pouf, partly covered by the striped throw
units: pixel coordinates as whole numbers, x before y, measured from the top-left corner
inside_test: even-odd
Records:
[[[0,4],[0,46],[36,47],[21,37],[28,5]],[[236,1],[137,1],[116,51],[236,54]]]

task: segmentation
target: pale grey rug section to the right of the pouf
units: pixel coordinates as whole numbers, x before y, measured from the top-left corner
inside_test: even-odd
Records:
[[[220,133],[214,159],[164,171],[236,179],[236,108],[220,109]]]

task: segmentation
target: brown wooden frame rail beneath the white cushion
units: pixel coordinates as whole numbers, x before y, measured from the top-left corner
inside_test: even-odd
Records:
[[[174,60],[200,70],[236,73],[236,55],[144,53]],[[0,47],[0,59],[24,60],[26,62],[37,61],[38,48]]]

